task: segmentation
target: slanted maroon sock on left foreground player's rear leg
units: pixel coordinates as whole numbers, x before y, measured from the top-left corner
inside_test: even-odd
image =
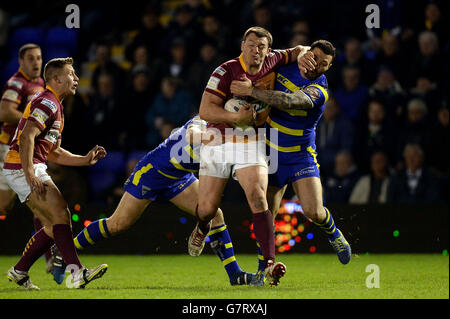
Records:
[[[49,250],[53,244],[53,239],[47,236],[44,229],[41,228],[41,230],[36,232],[34,236],[30,238],[25,246],[22,257],[14,268],[20,271],[28,271],[34,262],[38,260],[43,253]]]

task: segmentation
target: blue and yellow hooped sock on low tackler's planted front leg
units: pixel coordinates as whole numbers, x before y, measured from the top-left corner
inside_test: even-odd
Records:
[[[210,246],[220,258],[230,280],[234,280],[242,270],[234,256],[233,244],[225,224],[213,227],[208,233]]]

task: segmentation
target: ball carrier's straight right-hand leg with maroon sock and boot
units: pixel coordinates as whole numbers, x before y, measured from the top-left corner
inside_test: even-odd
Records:
[[[286,266],[275,262],[273,215],[266,198],[267,171],[267,167],[261,165],[250,166],[236,170],[236,176],[253,213],[253,233],[264,257],[264,274],[270,285],[278,285],[286,273]]]

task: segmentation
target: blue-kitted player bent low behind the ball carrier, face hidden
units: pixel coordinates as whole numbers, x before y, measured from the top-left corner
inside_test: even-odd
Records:
[[[201,134],[206,122],[198,116],[174,131],[163,143],[148,152],[125,182],[125,193],[109,218],[92,222],[74,239],[83,249],[127,230],[153,201],[169,201],[195,217],[198,202]],[[256,274],[241,270],[220,208],[208,233],[210,246],[222,261],[231,285],[262,286]]]

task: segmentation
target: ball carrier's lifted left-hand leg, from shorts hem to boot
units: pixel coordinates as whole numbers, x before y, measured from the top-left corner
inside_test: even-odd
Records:
[[[199,256],[211,229],[211,220],[216,216],[228,179],[201,175],[198,189],[196,216],[198,223],[188,241],[191,256]]]

